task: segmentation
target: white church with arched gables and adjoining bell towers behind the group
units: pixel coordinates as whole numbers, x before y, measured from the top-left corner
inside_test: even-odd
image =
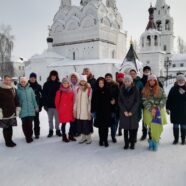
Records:
[[[26,62],[26,75],[36,72],[44,83],[51,70],[62,76],[91,68],[98,77],[110,72],[128,72],[151,66],[157,76],[166,76],[165,62],[174,57],[174,28],[170,6],[157,0],[149,8],[149,22],[140,37],[139,51],[127,53],[127,32],[116,0],[61,0],[47,38],[48,49]],[[126,55],[127,54],[127,55]],[[132,55],[132,56],[131,56]]]

